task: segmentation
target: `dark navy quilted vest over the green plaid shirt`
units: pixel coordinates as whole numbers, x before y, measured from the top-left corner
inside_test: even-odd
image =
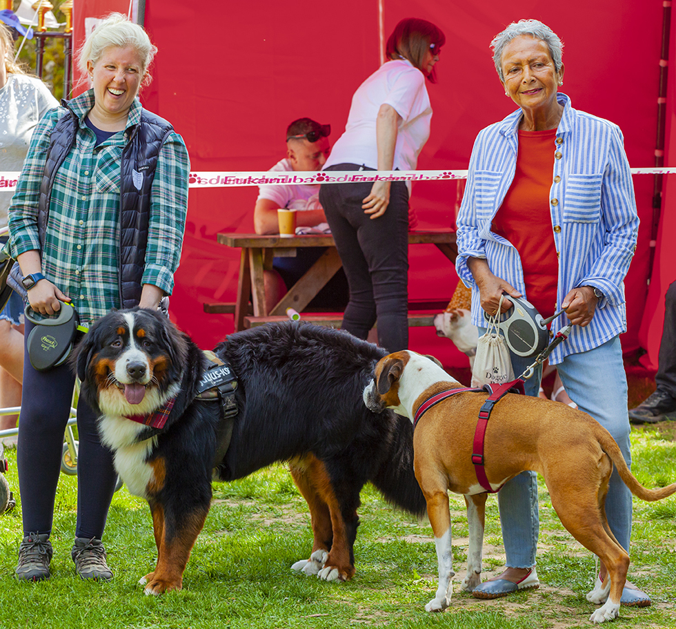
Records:
[[[68,108],[68,101],[61,104]],[[79,119],[70,108],[52,130],[45,172],[40,184],[38,231],[44,249],[52,185],[59,166],[74,145]],[[127,129],[128,142],[120,164],[120,243],[119,294],[122,308],[132,308],[141,300],[141,278],[146,264],[150,188],[155,177],[157,157],[173,127],[165,119],[146,111],[139,124]]]

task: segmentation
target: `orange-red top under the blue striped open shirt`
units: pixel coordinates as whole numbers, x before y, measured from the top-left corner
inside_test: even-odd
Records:
[[[511,242],[524,267],[526,299],[553,315],[559,261],[550,213],[556,129],[519,131],[514,180],[493,218],[493,232]]]

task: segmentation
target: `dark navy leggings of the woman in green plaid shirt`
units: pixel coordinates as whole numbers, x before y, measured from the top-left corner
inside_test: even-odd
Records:
[[[26,321],[26,338],[34,324]],[[75,377],[68,364],[36,371],[23,356],[23,396],[19,418],[17,467],[23,533],[50,533],[61,470],[63,434]],[[117,475],[112,452],[101,445],[92,409],[77,405],[77,524],[75,536],[101,539]]]

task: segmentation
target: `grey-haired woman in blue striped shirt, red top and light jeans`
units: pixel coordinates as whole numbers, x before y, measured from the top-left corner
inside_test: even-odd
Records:
[[[510,24],[491,42],[495,69],[519,108],[479,133],[457,220],[457,271],[472,288],[475,325],[495,314],[500,297],[526,296],[547,316],[565,314],[573,331],[550,356],[580,409],[613,435],[631,463],[627,383],[619,334],[626,330],[624,276],[637,237],[637,217],[622,132],[612,122],[573,109],[563,85],[562,43],[537,20]],[[504,300],[502,311],[512,306]],[[515,374],[530,360],[512,356]],[[526,382],[537,396],[541,369]],[[561,453],[566,456],[565,452]],[[537,483],[524,472],[498,494],[506,569],[479,585],[493,599],[537,588]],[[631,494],[613,472],[606,499],[610,530],[628,550]],[[606,566],[588,599],[600,603]],[[606,584],[607,585],[607,584]],[[627,583],[622,604],[650,598]],[[617,611],[617,610],[615,610]]]

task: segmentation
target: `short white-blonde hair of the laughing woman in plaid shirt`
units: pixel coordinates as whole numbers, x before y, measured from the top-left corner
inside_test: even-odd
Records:
[[[155,57],[157,47],[153,46],[148,33],[143,30],[142,26],[130,21],[126,15],[121,13],[111,13],[97,24],[80,49],[78,66],[84,76],[88,75],[87,61],[96,65],[103,55],[103,50],[110,46],[135,48],[141,57],[141,72],[145,75],[142,85],[150,83],[150,75],[146,73],[146,70],[152,58]]]

